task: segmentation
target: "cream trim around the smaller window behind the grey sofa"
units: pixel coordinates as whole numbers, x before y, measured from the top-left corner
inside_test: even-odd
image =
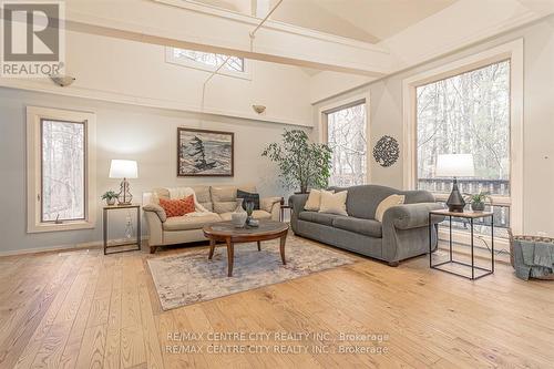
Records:
[[[327,114],[337,112],[342,109],[351,107],[359,104],[366,104],[366,184],[371,183],[371,125],[370,125],[370,99],[369,92],[358,93],[346,99],[336,100],[332,103],[322,105],[318,109],[318,135],[317,140],[320,143],[327,143]]]

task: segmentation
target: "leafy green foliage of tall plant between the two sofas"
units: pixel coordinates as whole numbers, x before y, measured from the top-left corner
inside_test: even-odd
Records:
[[[277,163],[280,181],[287,189],[326,188],[331,174],[331,148],[327,144],[310,142],[301,130],[285,130],[281,143],[271,143],[261,156]]]

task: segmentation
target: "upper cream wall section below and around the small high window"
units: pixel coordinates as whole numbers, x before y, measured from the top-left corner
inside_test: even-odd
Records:
[[[193,112],[310,126],[309,75],[298,66],[249,60],[252,79],[165,62],[165,48],[66,32],[66,72],[76,81],[60,88],[49,79],[0,79],[0,85],[70,96],[140,103]],[[266,105],[258,115],[253,104]]]

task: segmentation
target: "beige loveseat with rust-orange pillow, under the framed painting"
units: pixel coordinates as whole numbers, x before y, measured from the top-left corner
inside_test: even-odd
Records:
[[[253,185],[245,186],[191,186],[198,203],[212,214],[205,216],[166,217],[160,207],[157,198],[170,198],[167,188],[154,188],[143,194],[143,209],[148,229],[151,254],[158,246],[184,244],[205,240],[202,227],[205,224],[230,221],[230,214],[236,208],[237,189],[255,193]],[[259,211],[254,211],[256,219],[279,219],[281,197],[260,198]]]

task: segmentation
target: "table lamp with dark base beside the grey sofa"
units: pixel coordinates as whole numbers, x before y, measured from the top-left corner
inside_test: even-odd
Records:
[[[447,206],[449,212],[463,213],[465,201],[458,189],[458,177],[472,177],[475,175],[472,154],[444,154],[437,157],[437,177],[453,177],[452,192]]]

